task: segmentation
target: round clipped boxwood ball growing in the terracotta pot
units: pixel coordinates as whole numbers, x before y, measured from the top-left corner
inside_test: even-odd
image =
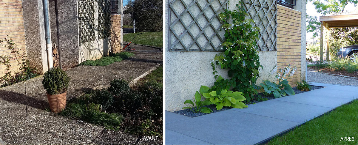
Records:
[[[61,94],[68,88],[69,77],[61,68],[51,68],[44,74],[43,87],[50,95]]]

